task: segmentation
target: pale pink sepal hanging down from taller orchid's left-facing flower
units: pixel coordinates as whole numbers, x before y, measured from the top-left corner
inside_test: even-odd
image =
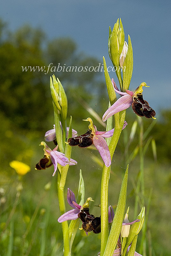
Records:
[[[111,165],[111,157],[106,140],[101,135],[95,134],[93,136],[93,144],[99,151],[106,167],[109,167]]]

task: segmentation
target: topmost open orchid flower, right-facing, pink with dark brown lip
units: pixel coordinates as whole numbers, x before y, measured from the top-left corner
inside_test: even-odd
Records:
[[[112,84],[115,92],[119,93],[122,97],[115,101],[115,103],[108,108],[104,113],[102,120],[105,122],[110,116],[129,108],[132,105],[132,109],[138,116],[145,116],[146,118],[156,119],[154,116],[156,112],[151,108],[146,100],[143,99],[143,89],[142,87],[147,86],[145,82],[141,83],[134,92],[126,90],[126,92],[120,92],[117,88],[114,79],[112,78]]]

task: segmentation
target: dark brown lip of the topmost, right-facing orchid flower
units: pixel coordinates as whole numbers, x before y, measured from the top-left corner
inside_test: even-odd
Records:
[[[145,116],[146,118],[151,118],[156,115],[156,112],[153,108],[150,107],[148,102],[143,99],[143,94],[138,93],[134,97],[132,102],[132,109],[137,116]]]

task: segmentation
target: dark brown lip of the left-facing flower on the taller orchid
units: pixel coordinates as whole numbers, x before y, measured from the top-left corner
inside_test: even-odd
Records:
[[[93,144],[93,134],[91,130],[88,130],[85,134],[77,137],[69,138],[68,144],[70,146],[78,146],[80,148],[87,148]]]

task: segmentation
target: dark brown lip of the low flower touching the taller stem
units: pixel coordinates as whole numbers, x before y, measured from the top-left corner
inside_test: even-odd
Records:
[[[78,213],[78,217],[82,220],[82,228],[85,232],[93,231],[94,234],[101,232],[101,218],[94,217],[94,215],[89,213],[89,208],[83,208],[81,212]]]

